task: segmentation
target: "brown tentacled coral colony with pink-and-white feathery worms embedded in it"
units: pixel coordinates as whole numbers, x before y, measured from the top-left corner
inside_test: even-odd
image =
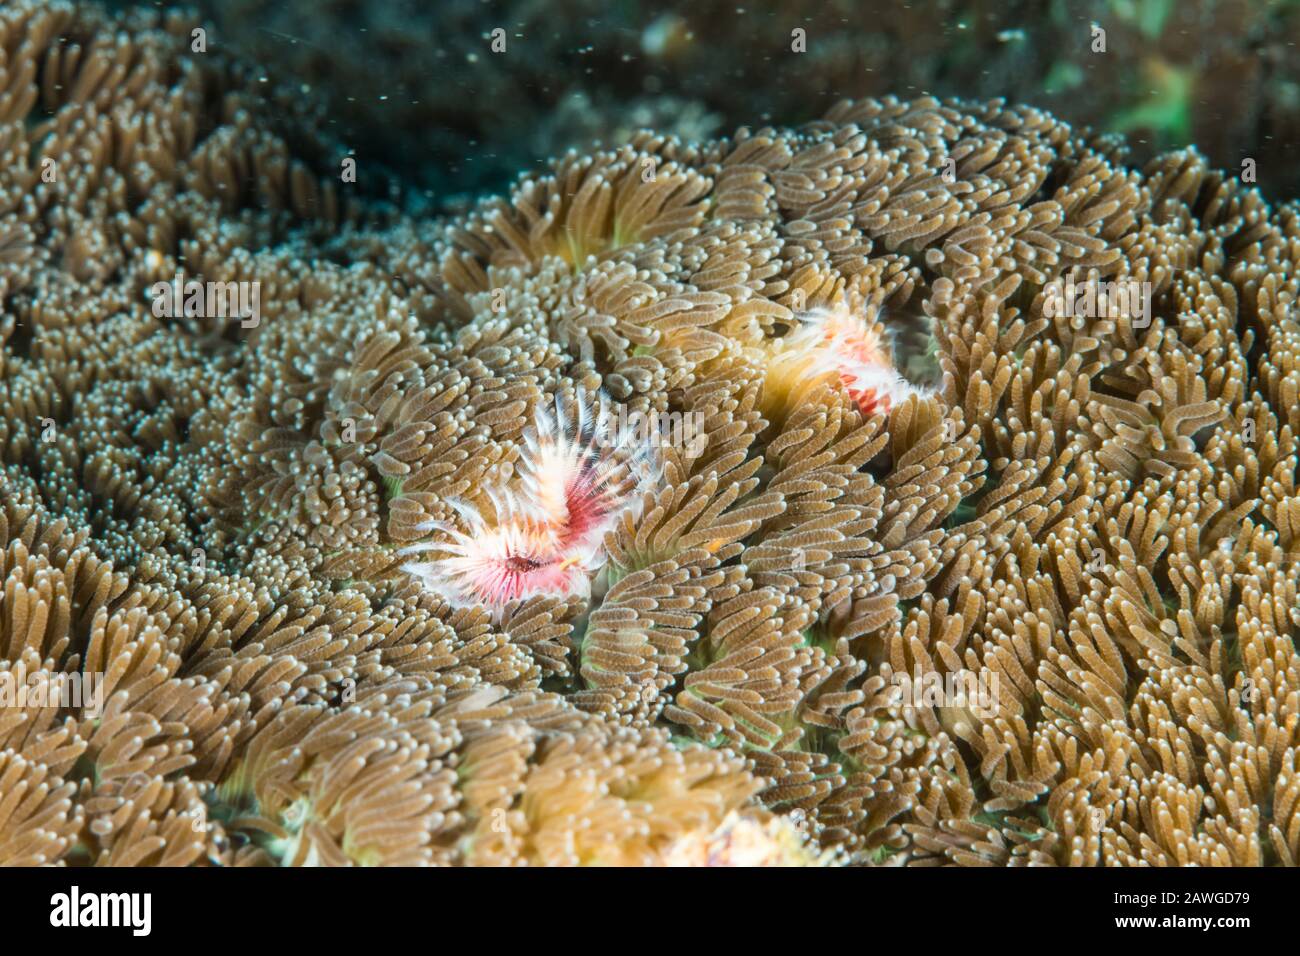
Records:
[[[239,56],[0,7],[0,864],[1300,861],[1294,202],[879,96],[439,213]]]

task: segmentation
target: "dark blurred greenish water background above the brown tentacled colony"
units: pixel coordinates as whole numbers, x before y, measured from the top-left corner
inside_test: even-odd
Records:
[[[121,4],[116,4],[121,5]],[[800,124],[842,98],[1004,96],[1124,134],[1130,161],[1195,143],[1300,185],[1296,0],[199,0],[280,79],[328,98],[360,156],[439,207],[593,140]],[[1092,26],[1106,52],[1092,51]],[[494,30],[506,31],[493,53]],[[806,51],[792,51],[802,29]]]

